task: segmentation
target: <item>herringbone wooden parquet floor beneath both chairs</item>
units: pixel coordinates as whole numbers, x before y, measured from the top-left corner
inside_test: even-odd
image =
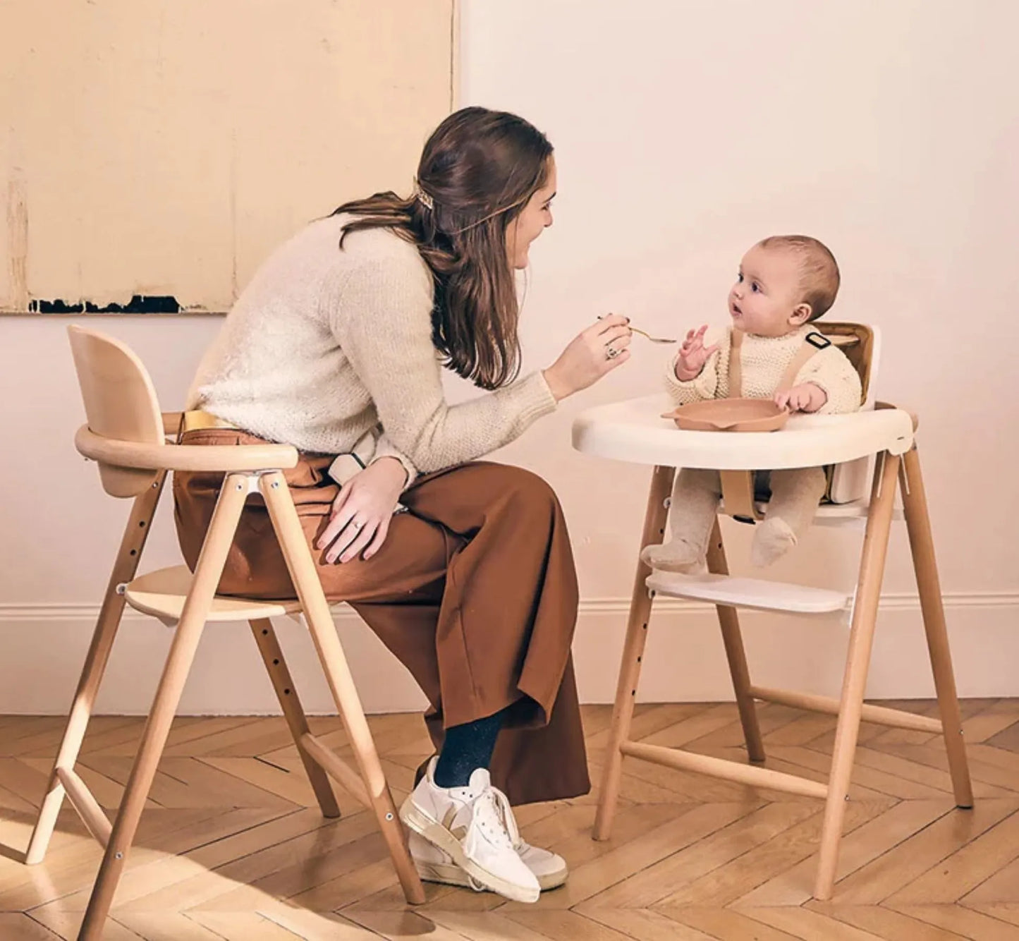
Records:
[[[929,702],[896,703],[933,714]],[[976,792],[954,808],[925,733],[864,725],[835,898],[810,886],[822,805],[628,760],[612,839],[591,840],[596,794],[522,807],[525,836],[571,865],[536,905],[428,887],[409,909],[373,820],[336,787],[325,821],[281,719],[174,723],[107,930],[110,941],[1006,941],[1019,939],[1019,700],[967,700]],[[760,708],[768,765],[825,775],[834,720]],[[597,780],[609,710],[587,708]],[[343,751],[337,721],[313,732]],[[371,720],[403,799],[428,753],[417,716]],[[93,721],[78,771],[114,807],[142,722]],[[46,861],[20,864],[62,720],[0,718],[0,938],[71,939],[100,849],[65,809]],[[734,756],[733,704],[639,707],[634,737]]]

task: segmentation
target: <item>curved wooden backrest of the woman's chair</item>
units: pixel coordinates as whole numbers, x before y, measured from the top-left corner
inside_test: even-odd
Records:
[[[156,389],[142,361],[105,333],[67,328],[89,429],[103,437],[163,445],[163,417]],[[152,470],[99,462],[103,489],[111,496],[138,496],[157,474]]]

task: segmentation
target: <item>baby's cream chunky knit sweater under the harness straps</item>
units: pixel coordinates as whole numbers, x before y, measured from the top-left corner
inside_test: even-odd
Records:
[[[743,388],[734,398],[770,399],[790,363],[803,344],[803,337],[813,327],[805,324],[785,336],[757,336],[747,333],[740,350]],[[677,357],[668,361],[665,385],[679,405],[700,402],[704,399],[728,399],[729,356],[732,350],[733,330],[727,327],[721,335],[708,330],[704,346],[717,343],[718,349],[704,364],[699,376],[689,382],[676,378]],[[796,374],[794,385],[813,382],[827,394],[827,401],[817,411],[821,415],[855,412],[860,408],[862,389],[860,376],[846,355],[835,345],[818,350]]]

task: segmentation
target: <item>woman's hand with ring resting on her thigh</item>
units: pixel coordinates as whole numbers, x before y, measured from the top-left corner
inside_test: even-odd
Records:
[[[407,482],[407,471],[395,458],[379,458],[340,487],[332,502],[329,524],[315,543],[328,548],[325,561],[350,562],[364,551],[371,559],[385,541],[392,511]]]

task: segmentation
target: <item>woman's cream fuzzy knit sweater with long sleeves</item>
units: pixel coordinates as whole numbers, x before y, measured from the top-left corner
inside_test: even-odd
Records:
[[[447,405],[430,270],[388,229],[355,232],[340,251],[343,221],[312,222],[256,272],[199,367],[189,408],[319,454],[368,435],[369,460],[398,458],[408,483],[508,443],[555,408],[541,372]]]

